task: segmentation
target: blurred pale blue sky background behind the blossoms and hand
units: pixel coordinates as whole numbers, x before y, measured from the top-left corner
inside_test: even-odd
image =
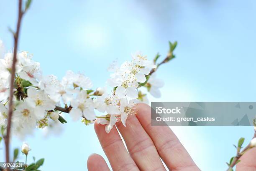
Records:
[[[34,0],[23,20],[19,50],[34,54],[44,75],[60,79],[67,70],[104,86],[108,65],[140,50],[148,58],[168,41],[178,41],[177,58],[157,74],[165,81],[162,97],[151,101],[255,101],[256,1],[246,0]],[[12,50],[8,27],[15,28],[17,0],[0,1],[0,40]],[[26,138],[43,171],[87,170],[91,153],[106,156],[93,126],[70,121],[58,136],[37,130]],[[248,143],[253,127],[172,127],[203,171],[220,171],[234,156],[240,137]],[[12,148],[22,141],[12,139]],[[3,142],[0,161],[4,160]],[[19,160],[22,161],[23,155]]]

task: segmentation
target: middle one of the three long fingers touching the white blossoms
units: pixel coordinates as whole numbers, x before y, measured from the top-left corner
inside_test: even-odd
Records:
[[[122,123],[116,125],[140,170],[165,170],[153,141],[135,115],[129,115],[126,127]]]

